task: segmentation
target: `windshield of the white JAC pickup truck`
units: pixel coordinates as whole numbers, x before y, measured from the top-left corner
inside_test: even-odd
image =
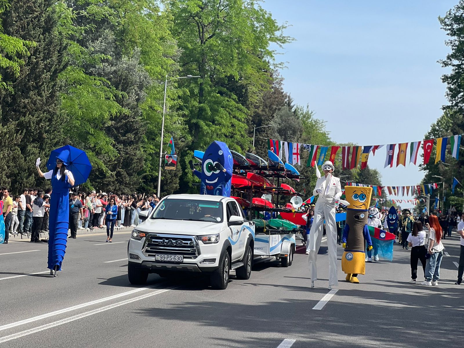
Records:
[[[209,221],[223,220],[222,202],[207,200],[166,199],[155,208],[151,219]]]

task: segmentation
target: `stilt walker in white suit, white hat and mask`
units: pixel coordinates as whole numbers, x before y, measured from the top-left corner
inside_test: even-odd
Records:
[[[325,220],[327,232],[327,244],[329,245],[329,290],[332,286],[338,286],[337,278],[337,227],[335,225],[335,200],[342,196],[340,179],[332,175],[335,170],[331,161],[322,164],[324,176],[316,166],[318,178],[313,194],[319,195],[314,208],[313,226],[309,232],[309,277],[311,278],[311,288],[314,288],[314,281],[317,280],[316,258],[321,246],[322,224]]]

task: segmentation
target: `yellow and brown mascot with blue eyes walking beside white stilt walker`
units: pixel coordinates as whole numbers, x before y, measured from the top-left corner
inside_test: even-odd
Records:
[[[342,270],[350,283],[359,283],[358,274],[366,273],[364,250],[372,250],[372,241],[367,226],[368,207],[371,201],[372,187],[345,186],[345,196],[349,203],[347,219],[343,229]]]

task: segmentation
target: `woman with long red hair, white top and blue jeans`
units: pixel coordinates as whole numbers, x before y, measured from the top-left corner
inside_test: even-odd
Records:
[[[443,230],[438,222],[436,215],[429,216],[429,223],[426,224],[429,228],[429,245],[427,252],[430,254],[430,258],[427,259],[425,265],[425,281],[422,285],[426,286],[438,286],[438,279],[440,279],[440,264],[443,258],[443,243],[441,237],[443,236]]]

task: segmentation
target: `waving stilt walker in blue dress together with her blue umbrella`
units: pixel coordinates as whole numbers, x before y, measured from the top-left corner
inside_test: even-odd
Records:
[[[40,158],[35,166],[40,177],[52,180],[49,210],[48,268],[50,275],[61,271],[69,228],[69,189],[83,184],[92,166],[84,151],[65,145],[52,151],[47,162],[48,172],[40,170]]]

